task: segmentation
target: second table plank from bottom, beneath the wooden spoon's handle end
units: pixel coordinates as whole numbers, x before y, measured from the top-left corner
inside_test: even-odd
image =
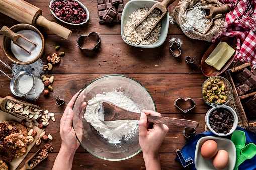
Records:
[[[204,114],[162,114],[165,117],[187,119],[197,121],[199,126],[196,128],[195,134],[204,132],[205,128],[205,115]],[[59,152],[61,146],[61,138],[59,134],[60,119],[62,117],[61,113],[56,113],[55,118],[56,122],[49,121],[49,125],[45,127],[46,134],[51,134],[53,140],[42,141],[39,146],[34,145],[30,152],[36,152],[38,149],[42,148],[44,144],[52,144],[54,150],[53,152]],[[38,121],[39,123],[41,120]],[[167,133],[165,139],[163,140],[162,146],[160,147],[160,153],[175,153],[177,148],[181,149],[183,145],[189,141],[188,138],[185,138],[182,135],[183,127],[169,126],[169,132]],[[85,153],[87,152],[82,146],[80,146],[76,152]]]

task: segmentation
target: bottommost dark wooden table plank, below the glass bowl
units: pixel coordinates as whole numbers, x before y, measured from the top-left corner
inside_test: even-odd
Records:
[[[22,168],[25,164],[25,161],[32,155],[33,153],[29,153],[17,169]],[[174,160],[174,158],[176,158],[176,155],[176,153],[160,154],[161,166],[163,170],[171,168],[184,170],[189,169],[183,168],[181,163]],[[48,158],[40,163],[36,167],[36,169],[52,169],[56,157],[57,153],[49,153]],[[142,153],[139,153],[130,159],[122,161],[107,161],[97,158],[90,153],[75,153],[72,169],[145,169],[145,163]]]

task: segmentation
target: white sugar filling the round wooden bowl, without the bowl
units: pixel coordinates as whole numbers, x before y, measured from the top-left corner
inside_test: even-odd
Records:
[[[23,48],[31,52],[31,54],[27,53],[25,50],[21,49],[17,45],[11,41],[11,50],[14,56],[22,61],[22,62],[29,62],[34,60],[41,52],[42,50],[42,39],[41,37],[34,31],[32,30],[21,30],[18,31],[17,34],[21,34],[27,39],[33,41],[34,43],[37,44],[35,47],[32,43],[28,42],[27,40],[23,38],[18,38],[17,43],[20,44]]]

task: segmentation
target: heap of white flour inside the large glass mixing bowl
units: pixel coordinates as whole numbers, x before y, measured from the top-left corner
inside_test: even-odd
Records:
[[[111,143],[118,143],[122,137],[128,139],[138,133],[137,120],[100,121],[98,118],[98,110],[100,108],[99,103],[102,101],[110,102],[116,106],[137,113],[140,113],[140,110],[131,99],[122,92],[117,91],[106,93],[106,95],[97,94],[93,99],[89,100],[84,118],[87,122],[91,123],[104,138],[108,139]]]

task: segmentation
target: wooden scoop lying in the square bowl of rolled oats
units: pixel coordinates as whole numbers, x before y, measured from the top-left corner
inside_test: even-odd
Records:
[[[170,4],[172,4],[175,0],[164,0],[162,3],[156,3],[153,5],[152,8],[150,8],[150,10],[147,12],[147,14],[138,22],[138,24],[136,24],[136,26],[134,27],[134,30],[145,20],[145,18],[147,18],[147,16],[154,10],[158,10],[161,12],[161,16],[158,18],[158,20],[156,21],[156,23],[153,25],[153,27],[151,27],[151,29],[149,30],[149,32],[146,34],[146,36],[144,37],[144,39],[146,39],[150,33],[152,32],[152,30],[157,26],[157,24],[159,22],[162,21],[162,19],[167,15],[167,8],[169,7]]]

